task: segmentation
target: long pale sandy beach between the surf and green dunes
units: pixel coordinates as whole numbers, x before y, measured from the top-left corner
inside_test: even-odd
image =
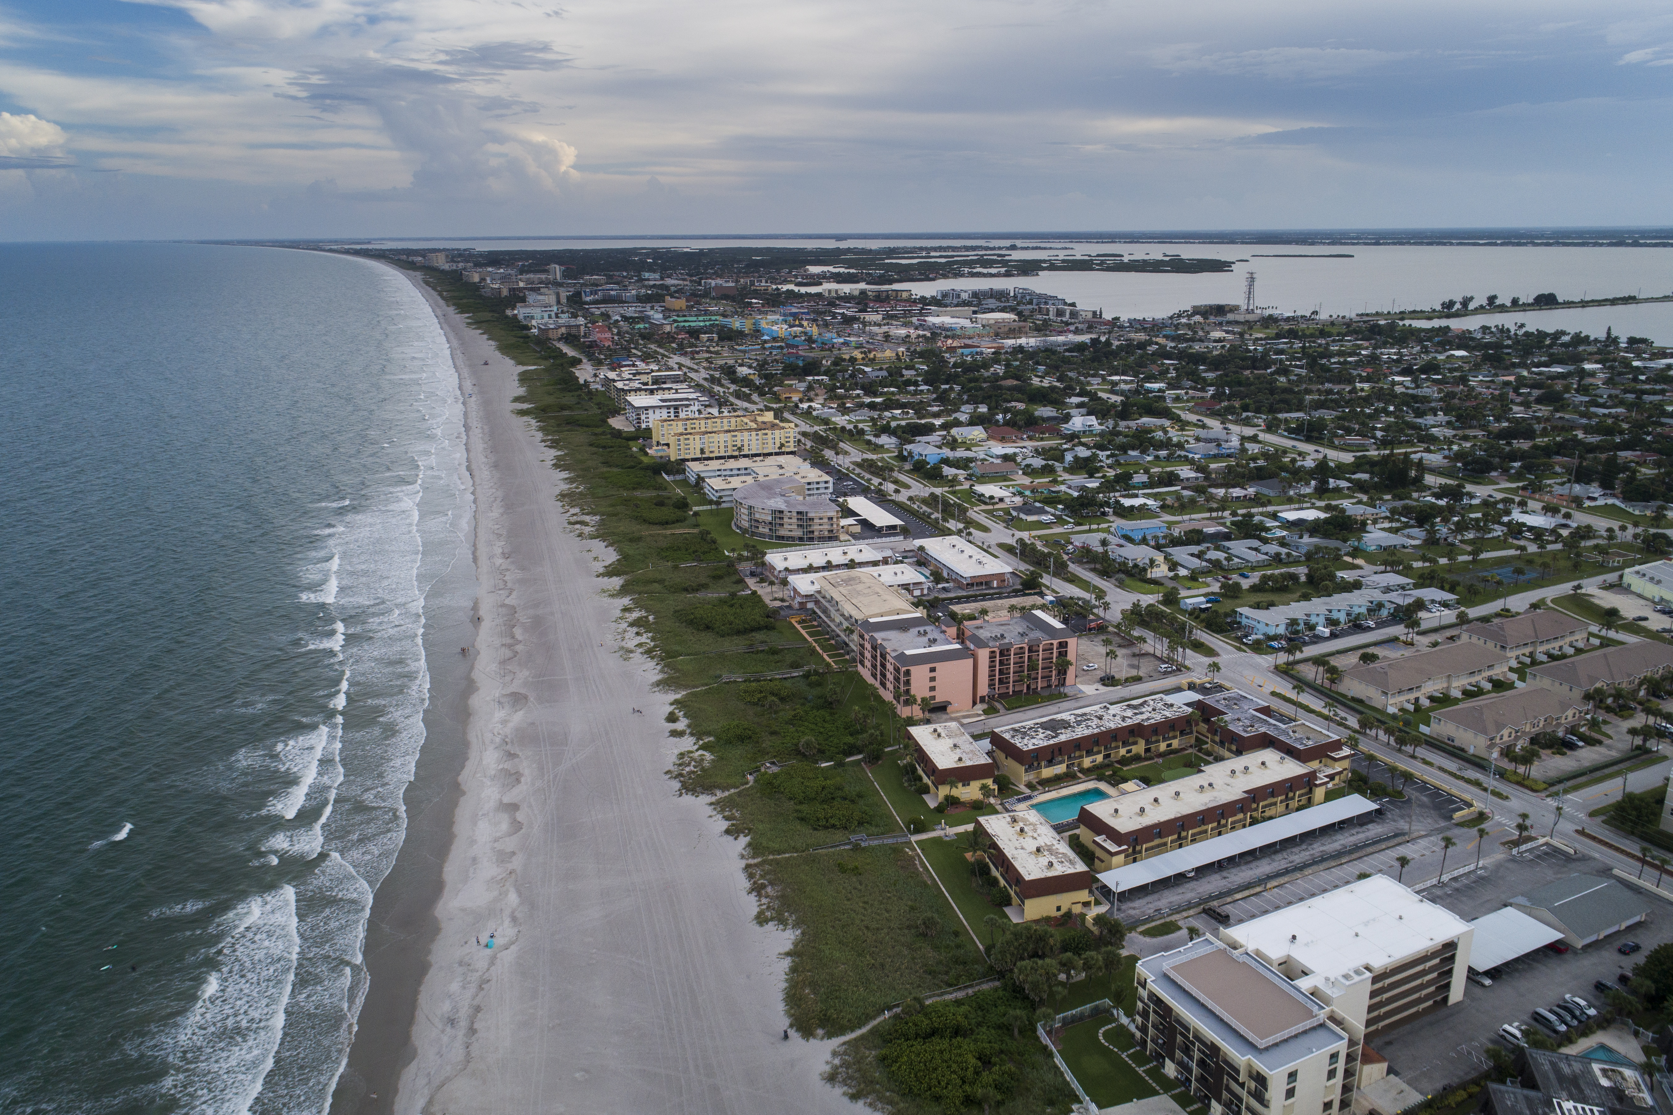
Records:
[[[412,1036],[361,1058],[353,1108],[857,1110],[820,1080],[830,1041],[781,1038],[790,934],[755,923],[739,844],[666,776],[668,695],[606,595],[612,555],[512,413],[517,368],[418,286],[473,396],[482,625]]]

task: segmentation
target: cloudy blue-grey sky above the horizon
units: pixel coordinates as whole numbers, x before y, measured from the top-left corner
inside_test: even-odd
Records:
[[[1670,224],[1661,3],[0,0],[0,241]]]

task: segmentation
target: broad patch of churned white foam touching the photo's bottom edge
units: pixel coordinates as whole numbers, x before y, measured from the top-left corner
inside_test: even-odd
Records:
[[[241,1115],[261,1092],[296,978],[296,891],[246,899],[217,924],[197,1001],[169,1030],[162,1090],[181,1110]]]

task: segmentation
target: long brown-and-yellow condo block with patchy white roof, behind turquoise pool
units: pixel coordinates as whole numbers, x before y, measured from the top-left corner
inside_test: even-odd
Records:
[[[1071,709],[989,737],[994,762],[1022,786],[1104,764],[1159,759],[1191,744],[1191,709],[1168,695]]]

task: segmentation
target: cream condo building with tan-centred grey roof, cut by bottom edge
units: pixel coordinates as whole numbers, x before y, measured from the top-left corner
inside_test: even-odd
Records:
[[[1133,1036],[1213,1115],[1353,1107],[1360,1043],[1258,956],[1200,938],[1138,963]]]

